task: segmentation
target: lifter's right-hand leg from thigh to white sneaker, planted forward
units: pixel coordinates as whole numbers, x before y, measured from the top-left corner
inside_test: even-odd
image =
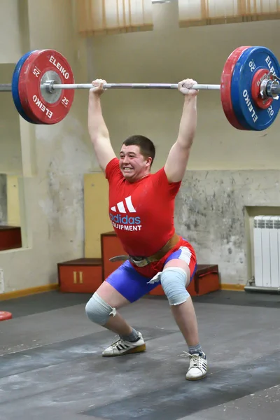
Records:
[[[186,247],[168,258],[161,275],[162,288],[169,300],[172,314],[188,344],[190,354],[190,367],[186,374],[188,380],[202,379],[207,375],[207,359],[200,345],[195,308],[186,290],[194,266],[195,260],[191,261],[191,253]]]

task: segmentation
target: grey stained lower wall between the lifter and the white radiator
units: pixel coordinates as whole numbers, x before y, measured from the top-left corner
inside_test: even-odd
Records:
[[[223,283],[255,274],[253,217],[280,214],[278,170],[189,171],[176,197],[176,230],[201,264],[218,264]]]

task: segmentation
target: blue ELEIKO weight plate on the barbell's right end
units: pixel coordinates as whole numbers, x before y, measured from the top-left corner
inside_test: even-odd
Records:
[[[279,62],[274,54],[265,47],[251,47],[242,52],[232,74],[232,106],[239,123],[248,130],[266,130],[274,122],[280,107],[275,100],[267,109],[260,109],[255,104],[251,87],[253,76],[259,69],[269,69],[280,76]]]

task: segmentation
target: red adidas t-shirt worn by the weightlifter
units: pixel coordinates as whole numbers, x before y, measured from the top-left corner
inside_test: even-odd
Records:
[[[118,158],[106,166],[109,217],[129,255],[150,256],[174,235],[175,197],[181,181],[169,183],[162,168],[137,182],[126,181]]]

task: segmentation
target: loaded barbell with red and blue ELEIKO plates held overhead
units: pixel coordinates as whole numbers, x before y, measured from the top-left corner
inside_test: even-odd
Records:
[[[220,85],[194,85],[197,90],[220,90],[223,111],[238,130],[266,130],[274,122],[280,101],[280,66],[265,47],[241,46],[228,57]],[[23,55],[13,71],[12,83],[0,84],[11,91],[15,108],[33,124],[56,124],[71,109],[75,89],[71,66],[55,50],[32,50]],[[178,89],[178,83],[106,83],[106,89]]]

